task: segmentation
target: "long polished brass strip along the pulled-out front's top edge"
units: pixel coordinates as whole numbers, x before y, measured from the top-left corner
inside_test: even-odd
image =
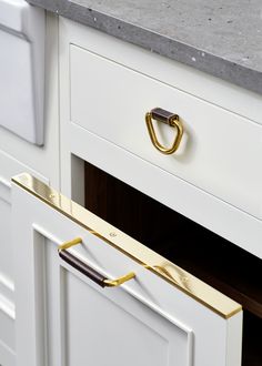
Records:
[[[242,306],[236,302],[151,251],[148,246],[117,230],[30,174],[23,173],[14,176],[12,177],[12,182],[223,318],[230,318],[242,309]],[[51,200],[50,194],[54,194],[56,199]],[[114,237],[110,236],[112,232],[118,235]]]

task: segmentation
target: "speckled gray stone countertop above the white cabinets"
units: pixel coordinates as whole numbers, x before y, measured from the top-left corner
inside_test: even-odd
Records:
[[[261,0],[28,0],[262,94]]]

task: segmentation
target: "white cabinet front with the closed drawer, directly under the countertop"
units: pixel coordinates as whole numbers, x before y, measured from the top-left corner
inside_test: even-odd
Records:
[[[59,27],[62,192],[82,203],[87,161],[262,258],[261,96],[70,20]],[[155,106],[184,124],[170,156],[147,132]]]

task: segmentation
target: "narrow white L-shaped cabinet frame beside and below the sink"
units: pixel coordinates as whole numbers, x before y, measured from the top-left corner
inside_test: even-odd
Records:
[[[33,145],[0,126],[0,150],[59,189],[58,20],[47,17],[44,145]],[[0,173],[4,166],[0,165]]]

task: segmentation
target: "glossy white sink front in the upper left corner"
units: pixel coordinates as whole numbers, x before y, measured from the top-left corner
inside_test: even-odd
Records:
[[[24,0],[0,0],[0,125],[41,145],[44,121],[44,10],[31,7]]]

